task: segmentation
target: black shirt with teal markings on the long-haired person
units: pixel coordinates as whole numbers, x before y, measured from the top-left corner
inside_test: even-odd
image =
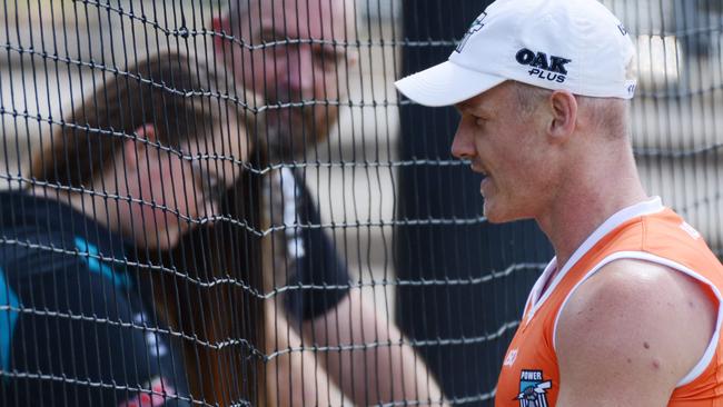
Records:
[[[187,406],[178,337],[121,237],[0,192],[0,405]]]

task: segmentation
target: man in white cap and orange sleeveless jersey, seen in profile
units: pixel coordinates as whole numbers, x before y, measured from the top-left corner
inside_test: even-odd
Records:
[[[555,258],[532,289],[497,406],[713,406],[723,266],[648,198],[628,137],[634,48],[594,0],[498,0],[447,62],[398,81],[455,105],[453,153],[489,221],[533,218]]]

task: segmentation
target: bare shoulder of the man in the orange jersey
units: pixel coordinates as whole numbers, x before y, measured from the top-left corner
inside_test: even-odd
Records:
[[[559,315],[561,380],[594,393],[598,385],[581,378],[597,377],[617,386],[618,397],[626,388],[670,397],[703,356],[716,312],[703,286],[683,272],[640,260],[613,261],[583,282]]]

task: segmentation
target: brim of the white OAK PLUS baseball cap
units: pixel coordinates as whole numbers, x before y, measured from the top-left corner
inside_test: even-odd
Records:
[[[504,82],[503,77],[482,73],[446,61],[394,82],[415,102],[429,107],[465,101]]]

